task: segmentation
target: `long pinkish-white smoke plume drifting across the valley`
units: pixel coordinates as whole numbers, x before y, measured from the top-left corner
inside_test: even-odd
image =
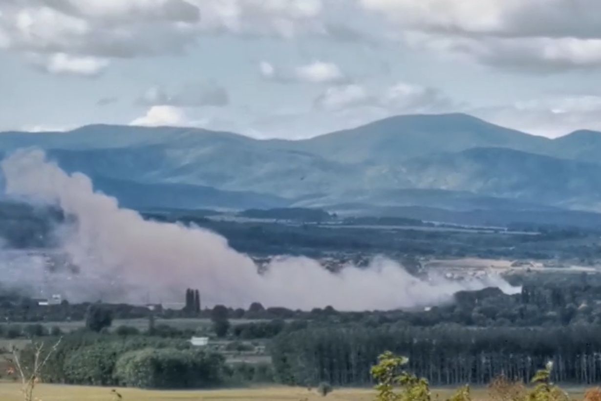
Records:
[[[284,258],[263,274],[227,240],[201,228],[145,221],[117,200],[93,191],[84,174],[67,174],[39,150],[21,150],[2,161],[8,195],[59,206],[73,216],[61,231],[62,249],[79,274],[56,272],[52,280],[73,300],[179,301],[199,289],[204,305],[269,306],[338,310],[392,309],[446,302],[459,290],[515,288],[499,277],[419,280],[400,265],[374,260],[332,274],[314,260]]]

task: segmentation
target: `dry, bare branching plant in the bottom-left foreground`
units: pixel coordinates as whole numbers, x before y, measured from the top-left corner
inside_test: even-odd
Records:
[[[59,338],[56,343],[54,343],[53,346],[47,351],[45,350],[46,344],[43,341],[40,343],[33,343],[33,360],[31,363],[25,363],[25,361],[23,361],[20,357],[19,350],[17,350],[16,347],[13,347],[13,359],[9,359],[8,361],[9,363],[13,364],[14,367],[16,367],[16,373],[21,379],[21,393],[23,394],[24,401],[34,400],[35,385],[40,382],[41,370],[50,359],[50,356],[52,356],[52,354],[56,351],[56,348],[58,348],[61,340],[62,337]]]

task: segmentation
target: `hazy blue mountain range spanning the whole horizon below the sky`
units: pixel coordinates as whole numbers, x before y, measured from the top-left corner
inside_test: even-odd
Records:
[[[311,139],[92,125],[0,133],[0,152],[46,150],[127,207],[601,212],[601,133],[557,139],[470,115],[401,115]]]

